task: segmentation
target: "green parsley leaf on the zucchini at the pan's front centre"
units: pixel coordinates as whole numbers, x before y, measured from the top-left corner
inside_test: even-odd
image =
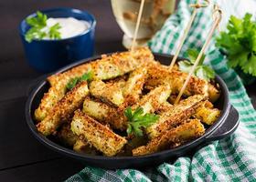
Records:
[[[143,136],[142,127],[146,128],[151,126],[159,119],[159,116],[155,114],[144,114],[144,109],[142,107],[136,108],[132,111],[131,106],[128,106],[125,111],[124,115],[128,119],[128,127],[127,127],[127,134],[134,135],[134,136]]]

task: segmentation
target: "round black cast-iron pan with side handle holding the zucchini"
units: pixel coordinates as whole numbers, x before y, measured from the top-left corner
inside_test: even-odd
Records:
[[[168,65],[171,60],[171,56],[154,54],[155,59],[160,61],[164,65]],[[56,73],[64,72],[71,67],[79,66],[85,62],[90,62],[101,56],[94,56],[89,59],[82,60],[80,62],[65,66]],[[179,58],[181,59],[181,58]],[[128,168],[128,167],[152,167],[161,164],[165,161],[174,159],[180,156],[186,156],[189,152],[196,150],[199,147],[203,147],[208,142],[219,140],[232,134],[237,126],[239,125],[239,114],[238,111],[230,105],[229,103],[229,92],[224,81],[216,76],[216,82],[219,83],[221,96],[216,106],[221,109],[221,114],[218,121],[216,121],[212,126],[209,126],[206,133],[203,136],[198,137],[195,140],[187,142],[181,147],[176,147],[173,149],[168,149],[162,152],[157,152],[155,154],[141,156],[141,157],[104,157],[104,156],[90,156],[85,154],[79,154],[69,148],[62,147],[57,143],[54,143],[46,136],[38,133],[37,127],[35,126],[35,121],[33,120],[33,114],[44,93],[48,91],[48,82],[44,79],[32,90],[31,94],[28,96],[26,105],[26,118],[27,125],[32,131],[33,135],[46,147],[59,152],[67,157],[72,157],[86,165],[91,165],[94,167],[103,167],[109,169],[115,168]]]

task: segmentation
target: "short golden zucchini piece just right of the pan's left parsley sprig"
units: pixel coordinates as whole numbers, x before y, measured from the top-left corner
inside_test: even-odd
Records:
[[[123,91],[118,83],[105,84],[101,80],[95,80],[91,82],[89,88],[91,96],[99,98],[102,102],[113,106],[121,106],[123,104]]]

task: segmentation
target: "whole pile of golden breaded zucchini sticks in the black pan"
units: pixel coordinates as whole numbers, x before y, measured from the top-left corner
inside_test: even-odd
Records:
[[[71,78],[89,71],[89,86],[80,82],[66,93]],[[168,66],[154,61],[147,48],[133,54],[103,55],[90,64],[48,77],[51,87],[35,111],[37,120],[42,120],[37,129],[45,136],[54,135],[75,151],[92,155],[140,156],[177,147],[204,134],[200,120],[211,125],[220,114],[208,101],[208,96],[210,101],[219,98],[218,86],[195,76],[189,80],[180,103],[169,103],[174,103],[186,78],[187,73],[177,68],[169,71]],[[153,125],[143,128],[144,139],[138,137],[139,142],[132,141],[130,135],[125,138],[121,132],[128,125],[124,115],[127,106],[132,110],[142,107],[144,114],[159,116]],[[126,139],[132,145],[126,145]]]

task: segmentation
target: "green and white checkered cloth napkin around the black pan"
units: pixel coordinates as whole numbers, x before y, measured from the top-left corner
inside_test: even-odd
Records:
[[[192,2],[182,0],[176,14],[167,19],[149,43],[154,52],[175,53],[176,42],[191,15],[188,5]],[[230,14],[240,14],[240,9],[233,8],[238,7],[236,2],[239,1],[218,1],[224,10],[224,21],[227,22]],[[210,25],[211,8],[199,10],[180,56],[184,56],[188,47],[200,49]],[[256,181],[256,112],[240,77],[227,67],[225,57],[219,53],[214,42],[209,46],[207,60],[225,80],[231,104],[240,113],[240,126],[233,135],[201,148],[192,158],[179,157],[174,163],[166,161],[144,171],[85,167],[67,181]]]

